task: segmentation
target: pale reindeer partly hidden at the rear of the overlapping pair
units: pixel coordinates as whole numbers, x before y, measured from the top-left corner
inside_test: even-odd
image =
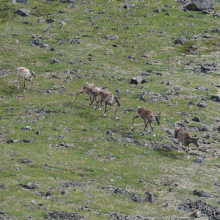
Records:
[[[93,104],[94,100],[96,101],[96,97],[98,96],[100,88],[98,88],[97,86],[95,86],[93,83],[88,83],[86,82],[82,89],[76,93],[76,97],[80,94],[80,93],[86,93],[87,95],[90,96],[90,103],[88,105],[88,107]],[[76,101],[76,97],[73,101],[73,103]],[[97,103],[97,101],[96,101]]]

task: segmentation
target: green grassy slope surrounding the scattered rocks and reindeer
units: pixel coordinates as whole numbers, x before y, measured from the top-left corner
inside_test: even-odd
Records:
[[[148,146],[154,142],[158,145],[172,143],[162,128],[171,129],[172,123],[185,120],[181,112],[191,113],[189,120],[194,115],[202,119],[201,123],[190,120],[188,128],[203,124],[211,126],[218,118],[219,104],[212,101],[208,101],[208,107],[205,109],[196,105],[192,109],[187,107],[189,101],[194,100],[197,103],[201,96],[207,96],[206,92],[194,90],[196,86],[209,88],[208,98],[218,92],[216,87],[213,87],[218,84],[218,74],[195,74],[185,69],[188,66],[184,65],[184,62],[218,62],[218,56],[212,55],[212,52],[218,50],[215,43],[219,41],[219,36],[210,30],[217,28],[219,21],[201,12],[184,13],[174,1],[139,1],[135,4],[135,9],[132,9],[132,13],[126,18],[128,10],[123,8],[122,1],[106,3],[104,0],[98,0],[87,5],[77,3],[77,9],[69,8],[69,4],[61,4],[58,1],[30,0],[30,6],[13,5],[4,0],[0,2],[0,8],[3,9],[0,11],[0,64],[2,68],[10,70],[9,76],[0,78],[0,115],[3,118],[0,120],[0,132],[5,137],[0,139],[0,184],[6,185],[5,189],[0,189],[0,209],[6,211],[9,216],[14,215],[17,219],[33,216],[35,219],[41,219],[49,211],[60,210],[78,211],[87,219],[110,219],[104,214],[111,211],[154,219],[183,217],[188,216],[188,213],[178,211],[176,204],[186,199],[198,199],[192,193],[194,189],[209,193],[215,190],[214,183],[219,181],[219,170],[213,165],[219,164],[219,158],[213,158],[212,151],[219,151],[218,142],[215,141],[219,138],[217,132],[212,132],[213,143],[209,157],[203,165],[193,162],[196,156],[187,159],[183,153],[155,151]],[[166,12],[153,12],[154,9],[164,8],[166,4],[172,5],[171,8],[166,8],[171,16],[165,16]],[[32,16],[23,18],[16,15],[15,9],[20,7],[30,8]],[[88,8],[92,9],[92,12],[86,12]],[[59,10],[63,9],[66,13],[59,13]],[[107,13],[99,14],[102,10]],[[216,11],[218,10],[219,3],[216,3]],[[146,13],[149,18],[143,17]],[[195,15],[195,18],[188,17],[189,14]],[[55,22],[38,23],[38,19],[48,18],[54,19]],[[61,20],[65,20],[66,25],[60,24]],[[31,21],[35,25],[23,24],[23,21]],[[98,28],[94,28],[93,23],[96,23]],[[126,26],[130,29],[126,29]],[[152,32],[152,29],[156,32]],[[184,32],[188,32],[186,36],[190,38],[205,34],[204,31],[208,31],[213,38],[189,41],[183,46],[173,44],[173,38]],[[136,37],[137,34],[141,36]],[[36,35],[44,37],[43,42],[50,47],[31,47],[31,42],[38,38],[33,38]],[[107,41],[106,35],[118,35],[119,40]],[[58,45],[61,38],[69,41],[79,38],[80,44],[67,42]],[[113,44],[119,44],[121,47],[113,47]],[[192,44],[198,46],[199,55],[188,53]],[[55,48],[54,52],[49,50],[51,47]],[[183,52],[187,55],[182,56]],[[89,54],[95,61],[88,60],[91,57]],[[128,58],[130,55],[134,56],[136,61],[131,61]],[[60,63],[51,64],[52,58],[60,60]],[[76,59],[81,62],[70,64]],[[182,63],[176,62],[177,59]],[[157,65],[146,65],[146,62],[156,62]],[[36,69],[37,78],[34,80],[33,91],[23,91],[22,86],[17,90],[18,66]],[[67,79],[67,71],[77,69],[83,70],[78,75],[84,77],[77,79],[71,75],[71,78]],[[185,69],[184,73],[180,69]],[[129,84],[131,77],[146,70],[165,74],[151,74],[148,77],[150,82],[144,85],[146,88],[143,88],[143,85]],[[60,79],[53,78],[52,75],[58,75]],[[118,80],[119,78],[124,80]],[[88,97],[84,94],[72,105],[72,95],[86,81],[95,82],[97,86],[106,84],[112,92],[115,92],[116,88],[121,89],[122,107],[118,111],[120,121],[113,120],[111,107],[108,108],[106,118],[101,117],[101,112],[88,109]],[[162,81],[170,81],[173,84],[164,85],[161,84]],[[191,84],[188,84],[189,81]],[[28,83],[27,85],[30,86]],[[60,95],[58,90],[62,85],[68,90]],[[175,86],[181,86],[182,90],[180,96],[173,96],[173,106],[169,106],[166,101],[145,104],[137,99],[137,94],[146,90],[163,93],[168,89],[168,92],[172,93]],[[47,94],[45,90],[51,90],[53,94]],[[146,99],[150,100],[150,97]],[[123,141],[107,141],[107,130],[118,130],[113,136],[119,139],[130,132],[134,113],[124,114],[124,110],[138,105],[145,105],[155,112],[162,110],[162,125],[155,125],[156,139],[150,134],[141,136],[143,122],[137,119],[140,124],[135,126],[132,139],[144,143],[145,147]],[[12,107],[15,109],[9,110]],[[58,113],[25,113],[28,109],[36,108],[48,108]],[[67,113],[62,113],[63,110]],[[27,125],[33,130],[21,130]],[[89,132],[85,132],[85,129]],[[40,131],[40,135],[36,135],[36,131]],[[205,133],[192,134],[203,139]],[[59,135],[64,138],[60,139]],[[25,138],[33,138],[35,142],[6,143],[7,139]],[[61,142],[69,143],[70,147],[52,147],[53,144],[59,145]],[[116,159],[106,160],[112,153]],[[34,163],[22,164],[19,161],[23,158],[31,159]],[[75,187],[75,190],[69,188],[67,195],[61,195],[58,185],[67,180],[86,183],[86,186]],[[22,185],[28,182],[36,182],[40,188],[32,191],[23,189]],[[176,192],[168,192],[169,187],[164,186],[165,182],[178,183]],[[129,196],[116,195],[111,190],[101,188],[109,185],[126,188],[143,197],[146,191],[151,191],[158,197],[154,204],[139,204],[129,200]],[[40,196],[39,192],[48,192],[50,189],[53,196]],[[31,204],[31,200],[36,203]],[[217,206],[216,199],[204,200]],[[170,206],[161,208],[166,202]],[[79,210],[80,206],[89,206],[93,211]],[[102,216],[98,215],[98,212],[102,213]]]

